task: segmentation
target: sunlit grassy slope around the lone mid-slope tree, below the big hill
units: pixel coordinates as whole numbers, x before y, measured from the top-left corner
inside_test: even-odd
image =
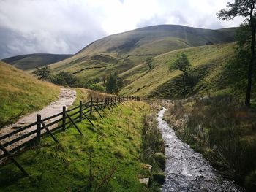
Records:
[[[137,79],[135,78],[136,80],[130,85],[127,85],[121,93],[136,94],[138,96],[170,96],[168,95],[170,93],[168,89],[171,89],[173,86],[173,83],[170,82],[180,76],[181,72],[169,72],[168,68],[170,62],[176,58],[176,54],[181,52],[187,54],[194,69],[195,67],[203,66],[206,66],[208,69],[214,66],[214,68],[211,69],[211,73],[204,77],[198,85],[204,85],[204,87],[201,86],[201,88],[206,92],[207,89],[210,92],[217,91],[219,88],[214,89],[214,85],[216,81],[219,80],[217,77],[219,77],[220,72],[222,72],[223,64],[233,55],[233,46],[233,43],[225,45],[207,45],[175,50],[158,55],[154,58],[155,68],[150,72],[141,72],[142,76],[136,77]],[[130,69],[130,71],[132,72],[132,69]],[[132,76],[129,78],[132,78]]]

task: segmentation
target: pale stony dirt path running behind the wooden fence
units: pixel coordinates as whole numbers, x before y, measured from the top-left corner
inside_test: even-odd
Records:
[[[33,112],[30,115],[26,115],[23,118],[20,118],[16,123],[13,123],[12,125],[5,126],[4,128],[1,128],[0,137],[16,130],[17,128],[34,123],[37,120],[37,114],[41,114],[42,119],[43,119],[43,118],[47,118],[51,115],[55,115],[59,112],[62,112],[62,107],[63,106],[66,106],[66,107],[72,106],[72,103],[75,101],[75,98],[76,98],[75,90],[71,90],[69,88],[61,88],[61,93],[59,94],[59,99],[57,101],[53,101],[52,103],[50,103],[48,106],[46,106],[42,110]],[[48,120],[45,123],[50,123],[50,122],[53,122],[54,120],[56,120],[56,118]],[[54,128],[54,127],[51,126],[51,128]],[[1,142],[2,143],[8,142],[12,139],[15,139],[16,137],[18,137],[20,135],[29,133],[30,131],[32,131],[34,129],[35,129],[35,126],[33,126],[31,128],[27,128],[26,130],[20,131],[18,134],[13,135],[12,137],[8,137],[7,139],[2,140]],[[35,137],[35,134],[31,135],[30,137],[26,137],[25,139],[22,139],[19,142],[15,142],[15,144],[7,147],[7,149],[10,150],[18,145],[21,145],[23,142],[29,141],[29,139],[31,139],[33,137]],[[1,152],[0,152],[0,155],[1,155]]]

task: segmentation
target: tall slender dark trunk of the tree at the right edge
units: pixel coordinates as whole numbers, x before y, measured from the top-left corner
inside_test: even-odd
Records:
[[[248,72],[247,72],[247,88],[246,88],[246,99],[245,99],[245,105],[247,107],[250,107],[250,100],[251,100],[251,91],[252,91],[252,66],[255,63],[255,20],[253,18],[253,9],[254,5],[251,8],[250,12],[250,27],[252,31],[252,42],[251,42],[251,58],[248,66]]]

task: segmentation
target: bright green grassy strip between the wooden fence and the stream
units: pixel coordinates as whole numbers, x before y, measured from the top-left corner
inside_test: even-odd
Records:
[[[98,172],[99,178],[100,174],[108,174],[113,164],[117,166],[102,191],[148,191],[138,182],[138,175],[143,174],[140,164],[143,114],[148,110],[148,104],[129,101],[108,112],[103,120],[94,116],[97,128],[86,120],[78,123],[85,137],[71,127],[56,134],[60,145],[50,137],[44,138],[42,147],[28,150],[17,158],[31,178],[22,177],[13,164],[7,164],[0,168],[0,191],[89,191],[91,147],[93,172]],[[105,136],[97,142],[102,134]]]

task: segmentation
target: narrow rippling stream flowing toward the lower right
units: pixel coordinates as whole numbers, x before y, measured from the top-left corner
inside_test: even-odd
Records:
[[[162,191],[242,191],[233,181],[223,179],[208,161],[176,137],[163,115],[158,113],[158,126],[165,141],[166,180]]]

